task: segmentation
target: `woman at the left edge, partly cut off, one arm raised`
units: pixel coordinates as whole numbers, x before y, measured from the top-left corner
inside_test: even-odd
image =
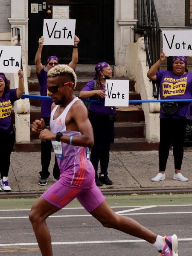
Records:
[[[8,173],[10,166],[10,155],[15,141],[15,131],[12,123],[12,104],[20,99],[24,93],[23,71],[18,71],[19,87],[9,89],[9,80],[0,73],[0,190],[11,191]]]

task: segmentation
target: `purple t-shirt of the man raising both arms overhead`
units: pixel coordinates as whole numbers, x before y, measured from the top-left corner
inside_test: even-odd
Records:
[[[40,74],[37,74],[37,77],[40,84],[41,96],[49,96],[49,91],[47,90],[47,71],[43,68]],[[41,100],[41,117],[50,117],[51,105],[52,100]]]

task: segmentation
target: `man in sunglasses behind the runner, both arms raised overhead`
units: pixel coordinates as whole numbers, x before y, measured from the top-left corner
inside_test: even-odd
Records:
[[[41,96],[49,96],[49,92],[47,90],[47,71],[44,70],[43,64],[41,63],[41,52],[43,48],[44,38],[39,38],[39,47],[35,55],[35,68],[38,76],[38,81],[40,84],[40,90],[41,90]],[[79,38],[75,36],[74,38],[74,46],[73,46],[73,54],[72,54],[72,60],[69,63],[69,66],[72,67],[74,70],[76,68],[76,64],[78,62],[78,43]],[[58,65],[58,58],[56,56],[49,56],[47,58],[47,64],[45,67],[47,70],[50,70],[52,67]],[[51,105],[52,102],[48,100],[41,100],[41,118],[44,119],[45,125],[49,125],[49,119],[50,119],[50,113],[51,113]],[[41,166],[42,171],[40,173],[40,179],[39,179],[39,185],[44,186],[47,185],[47,179],[50,175],[49,172],[49,164],[51,161],[51,150],[52,150],[52,144],[50,141],[42,141],[41,142]],[[53,167],[53,181],[56,181],[59,179],[59,168],[57,161],[55,159],[55,164]]]

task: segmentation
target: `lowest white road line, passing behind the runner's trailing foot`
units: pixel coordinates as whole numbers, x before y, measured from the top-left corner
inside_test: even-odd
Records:
[[[180,238],[178,241],[192,241],[192,238]],[[146,242],[142,239],[132,240],[109,240],[109,241],[74,241],[74,242],[52,242],[55,244],[110,244],[110,243],[138,243]],[[27,246],[27,245],[38,245],[38,243],[15,243],[15,244],[0,244],[0,246]]]

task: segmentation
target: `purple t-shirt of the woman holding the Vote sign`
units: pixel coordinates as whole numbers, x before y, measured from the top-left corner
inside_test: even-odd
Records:
[[[83,87],[82,91],[90,91],[94,90],[94,84],[95,80],[89,81],[85,86]],[[103,90],[104,87],[100,85],[100,90]],[[90,99],[93,100],[98,100],[96,96],[90,97]],[[103,115],[109,115],[111,113],[116,113],[116,108],[115,107],[105,107],[105,99],[99,96],[99,102],[102,102],[103,104],[96,104],[96,103],[91,103],[90,104],[90,111],[93,111],[97,114],[103,114]]]

